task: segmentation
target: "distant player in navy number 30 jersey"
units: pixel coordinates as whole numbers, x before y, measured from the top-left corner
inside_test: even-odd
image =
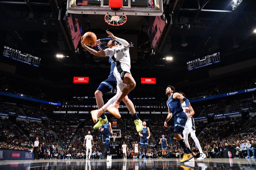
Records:
[[[147,123],[146,122],[143,122],[143,129],[139,132],[139,135],[140,135],[140,147],[141,147],[141,150],[140,150],[140,159],[143,155],[143,149],[145,148],[145,155],[147,154],[148,152],[148,139],[150,137],[150,131],[149,131],[149,128],[146,126]]]

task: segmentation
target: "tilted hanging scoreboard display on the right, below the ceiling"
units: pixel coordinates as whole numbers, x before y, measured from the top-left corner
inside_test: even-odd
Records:
[[[188,71],[198,69],[204,66],[220,62],[220,53],[214,53],[212,55],[204,56],[203,58],[197,58],[196,60],[188,61]]]

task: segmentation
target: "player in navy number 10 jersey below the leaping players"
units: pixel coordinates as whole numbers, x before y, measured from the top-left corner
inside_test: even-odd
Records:
[[[110,151],[109,151],[109,141],[110,141],[110,133],[113,133],[112,128],[111,128],[111,123],[108,122],[103,124],[100,128],[99,131],[102,132],[102,142],[106,147],[106,151],[107,151],[107,161],[111,161],[111,155],[110,155]]]

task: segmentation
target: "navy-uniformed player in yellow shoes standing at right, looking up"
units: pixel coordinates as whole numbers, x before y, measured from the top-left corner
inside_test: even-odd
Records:
[[[167,86],[165,94],[169,98],[167,100],[167,107],[168,107],[169,113],[167,115],[166,120],[164,121],[164,126],[168,127],[167,122],[173,116],[174,117],[174,136],[176,137],[176,140],[180,143],[180,146],[184,151],[184,156],[180,160],[180,162],[187,162],[190,159],[192,159],[193,156],[189,153],[190,149],[186,146],[185,141],[182,138],[181,134],[183,133],[186,122],[188,120],[186,113],[189,112],[189,108],[188,108],[189,100],[184,96],[182,96],[181,94],[177,92],[175,93],[175,88],[171,85]],[[185,107],[186,113],[183,112],[183,108],[181,107],[180,100],[183,100],[186,103],[186,107]]]

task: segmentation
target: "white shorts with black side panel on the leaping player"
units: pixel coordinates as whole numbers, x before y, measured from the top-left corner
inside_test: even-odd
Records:
[[[126,84],[123,83],[125,72],[128,72],[131,74],[130,68],[126,64],[120,63],[120,65],[114,68],[114,76],[116,78],[117,85],[120,87],[121,91],[124,88],[124,86],[126,86]]]

